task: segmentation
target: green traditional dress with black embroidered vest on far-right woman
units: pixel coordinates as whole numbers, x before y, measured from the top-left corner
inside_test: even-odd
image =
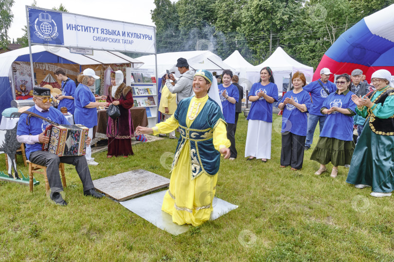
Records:
[[[394,190],[394,88],[372,93],[371,108],[356,108],[367,118],[353,153],[346,182],[372,186],[373,192]]]

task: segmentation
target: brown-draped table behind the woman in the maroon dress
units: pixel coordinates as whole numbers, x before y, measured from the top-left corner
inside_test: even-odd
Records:
[[[130,114],[133,121],[134,131],[138,126],[148,126],[148,117],[146,116],[146,110],[144,107],[132,107],[130,108]],[[93,138],[96,137],[96,132],[107,134],[107,123],[107,110],[97,110],[97,127],[93,128]]]

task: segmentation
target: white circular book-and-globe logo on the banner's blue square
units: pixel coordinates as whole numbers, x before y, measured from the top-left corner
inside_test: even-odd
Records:
[[[51,41],[57,38],[57,25],[48,13],[40,13],[34,22],[36,36],[44,41]]]

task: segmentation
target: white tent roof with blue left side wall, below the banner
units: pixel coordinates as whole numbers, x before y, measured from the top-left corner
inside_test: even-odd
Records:
[[[74,64],[74,65],[105,65],[127,64],[139,67],[143,63],[120,52],[94,50],[93,55],[70,53],[70,49],[61,47],[32,46],[32,57],[35,63]],[[0,54],[0,112],[10,107],[15,99],[15,88],[12,88],[12,63],[30,62],[29,48],[21,48]],[[30,86],[31,86],[30,81]]]

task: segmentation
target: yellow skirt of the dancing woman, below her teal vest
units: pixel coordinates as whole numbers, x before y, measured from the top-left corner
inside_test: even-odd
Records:
[[[178,225],[195,227],[208,221],[215,197],[217,174],[209,176],[203,172],[195,180],[190,176],[191,159],[189,144],[182,148],[178,164],[172,171],[169,190],[165,193],[161,210],[172,215]]]

